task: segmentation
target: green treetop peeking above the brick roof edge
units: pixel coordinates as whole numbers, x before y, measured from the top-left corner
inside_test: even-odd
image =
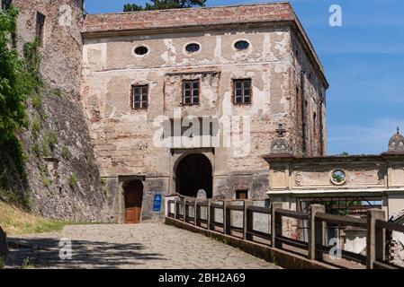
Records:
[[[142,10],[161,10],[175,8],[203,7],[206,0],[151,0],[152,4],[146,4],[145,7],[138,4],[125,4],[124,12],[142,11]]]

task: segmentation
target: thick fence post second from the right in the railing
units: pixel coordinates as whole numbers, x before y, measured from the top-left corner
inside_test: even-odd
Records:
[[[326,207],[321,204],[310,205],[309,218],[309,259],[321,260],[322,251],[319,246],[322,246],[325,233],[325,223],[316,221],[317,213],[326,213]]]

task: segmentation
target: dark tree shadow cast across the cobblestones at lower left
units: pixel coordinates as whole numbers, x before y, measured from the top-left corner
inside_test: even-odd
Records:
[[[35,268],[118,268],[145,265],[150,260],[168,260],[163,255],[148,253],[148,249],[139,243],[110,243],[98,241],[72,240],[71,260],[62,260],[59,257],[60,249],[66,246],[59,245],[58,239],[19,239],[9,238],[9,258],[7,268],[20,268],[26,265],[29,258],[29,267]],[[62,255],[66,254],[61,252]]]

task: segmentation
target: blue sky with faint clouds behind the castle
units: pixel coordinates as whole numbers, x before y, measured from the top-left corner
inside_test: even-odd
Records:
[[[87,13],[121,12],[135,0],[86,0]],[[281,2],[281,1],[272,1]],[[209,6],[262,1],[208,0]],[[396,126],[404,133],[404,1],[292,0],[325,67],[328,153],[377,154]],[[328,24],[331,4],[343,26]]]

